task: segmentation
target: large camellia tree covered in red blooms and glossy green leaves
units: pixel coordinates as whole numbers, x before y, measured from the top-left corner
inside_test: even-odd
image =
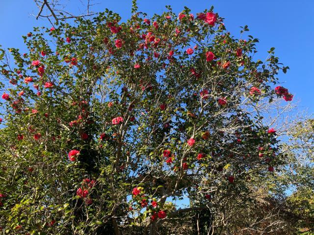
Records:
[[[275,85],[288,67],[274,48],[254,61],[258,39],[213,8],[167,9],[148,18],[133,1],[127,21],[106,9],[34,28],[14,62],[1,49],[1,233],[154,235],[193,213],[198,234],[281,229],[231,228],[230,211],[285,164],[257,104],[292,100]]]

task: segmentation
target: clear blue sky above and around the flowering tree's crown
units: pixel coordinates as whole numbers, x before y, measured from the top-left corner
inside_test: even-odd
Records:
[[[78,0],[64,1],[70,2],[68,11],[78,11]],[[109,8],[123,20],[131,15],[131,0],[94,0],[97,2],[94,11]],[[276,55],[290,67],[287,74],[280,74],[280,80],[300,101],[300,108],[309,108],[313,113],[314,0],[138,0],[139,10],[150,16],[161,13],[168,4],[177,13],[187,6],[194,14],[214,5],[214,11],[226,18],[225,25],[235,36],[239,26],[247,24],[248,34],[260,39],[256,59],[265,59],[266,51],[276,47]],[[31,16],[37,12],[32,0],[0,0],[0,45],[25,48],[21,35],[31,31],[32,26],[49,25]]]

